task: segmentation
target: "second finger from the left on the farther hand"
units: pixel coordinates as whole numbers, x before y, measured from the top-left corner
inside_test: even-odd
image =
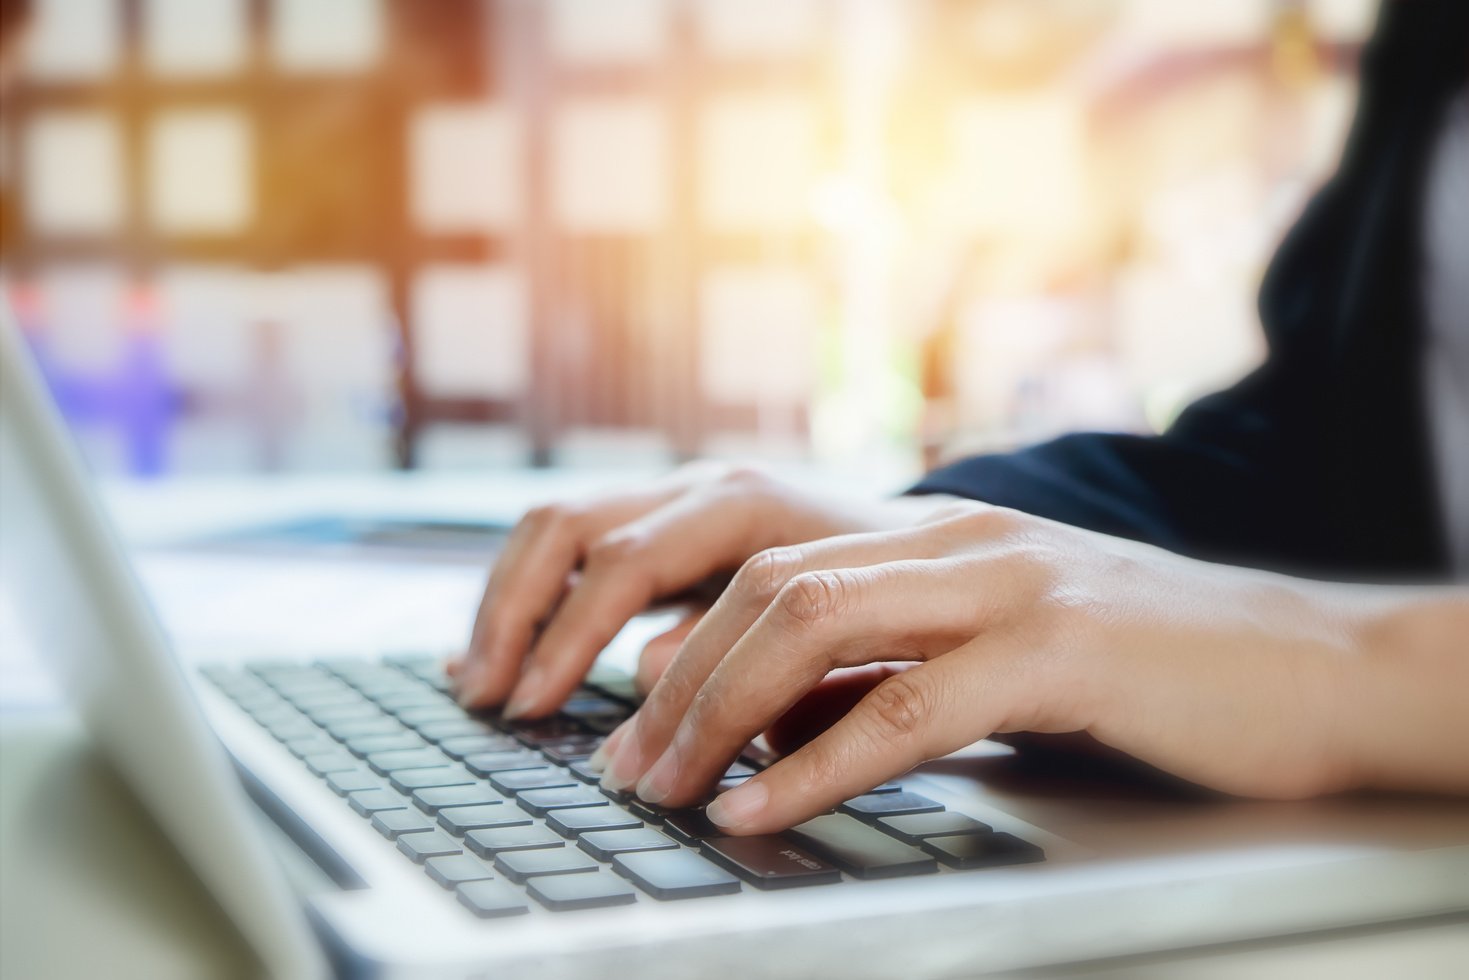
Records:
[[[554,711],[627,620],[655,598],[737,566],[762,548],[765,519],[762,501],[715,485],[605,535],[588,550],[582,580],[536,642],[507,717]]]

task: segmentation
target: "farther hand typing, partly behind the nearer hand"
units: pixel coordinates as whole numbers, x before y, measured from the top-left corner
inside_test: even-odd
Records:
[[[690,466],[638,492],[538,507],[516,525],[485,588],[460,701],[539,717],[576,689],[629,619],[730,573],[751,555],[858,530],[902,527],[952,498],[842,502],[749,469]],[[692,620],[649,645],[651,682]]]

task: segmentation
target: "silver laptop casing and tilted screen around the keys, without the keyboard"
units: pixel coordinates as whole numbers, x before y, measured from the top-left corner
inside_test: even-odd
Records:
[[[660,901],[639,886],[579,911],[494,870],[527,898],[480,918],[261,726],[248,696],[226,695],[257,691],[270,667],[241,663],[222,689],[178,660],[9,314],[0,363],[0,551],[16,607],[97,746],[272,976],[972,976],[1469,909],[1466,801],[1228,801],[977,751],[921,767],[903,790],[1044,860],[881,880],[843,868],[787,889],[711,862],[737,890]]]

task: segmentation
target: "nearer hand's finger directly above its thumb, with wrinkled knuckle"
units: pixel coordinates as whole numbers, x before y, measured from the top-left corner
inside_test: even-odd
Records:
[[[751,738],[831,670],[962,645],[1005,592],[981,582],[989,595],[975,597],[975,577],[955,558],[796,576],[710,674],[638,795],[668,807],[701,798]]]

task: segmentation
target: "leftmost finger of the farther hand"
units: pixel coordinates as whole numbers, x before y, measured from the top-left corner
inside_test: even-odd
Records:
[[[458,676],[460,701],[466,705],[502,701],[520,674],[536,627],[560,601],[588,542],[657,507],[673,492],[660,488],[611,497],[585,508],[549,504],[529,511],[491,569]]]

